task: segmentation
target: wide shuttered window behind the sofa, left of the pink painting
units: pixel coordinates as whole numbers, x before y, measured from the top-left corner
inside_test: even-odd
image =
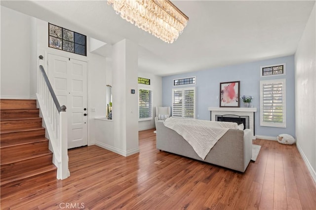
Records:
[[[195,88],[172,89],[172,116],[195,118]]]

